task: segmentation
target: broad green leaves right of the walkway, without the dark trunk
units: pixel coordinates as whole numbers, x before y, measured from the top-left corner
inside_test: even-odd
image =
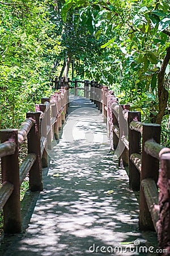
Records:
[[[145,106],[145,118],[155,122],[161,108],[160,98],[164,97],[159,93],[158,76],[170,45],[169,1],[65,2],[63,21],[67,22],[69,14],[76,11],[77,23],[87,28],[87,36],[91,35],[95,42],[93,47],[98,47],[82,55],[86,77],[123,93],[124,102],[131,100],[142,109]],[[169,67],[167,63],[162,91],[169,90]]]

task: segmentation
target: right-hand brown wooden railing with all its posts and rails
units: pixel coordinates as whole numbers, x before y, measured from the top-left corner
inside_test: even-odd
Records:
[[[170,253],[170,148],[160,145],[161,126],[141,122],[140,112],[119,105],[112,91],[103,93],[111,147],[129,167],[129,187],[140,190],[139,228],[155,229],[159,247]]]

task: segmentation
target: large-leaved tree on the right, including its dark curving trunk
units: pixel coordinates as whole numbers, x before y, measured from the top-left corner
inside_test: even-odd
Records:
[[[100,46],[107,54],[102,53],[102,66],[107,60],[108,71],[112,73],[116,67],[115,77],[119,80],[113,79],[113,75],[107,80],[111,78],[116,83],[126,80],[120,85],[121,90],[125,90],[127,96],[125,86],[129,83],[129,92],[133,91],[133,96],[139,97],[140,101],[148,93],[155,100],[158,97],[159,108],[153,101],[149,115],[151,121],[160,123],[168,101],[169,2],[66,0],[62,9],[64,22],[73,9],[78,11],[78,20],[86,24],[89,33],[98,42],[103,42]],[[97,63],[101,64],[101,61]]]

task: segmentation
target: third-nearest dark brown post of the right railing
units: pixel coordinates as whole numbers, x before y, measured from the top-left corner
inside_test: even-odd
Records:
[[[131,121],[141,122],[141,112],[128,112],[128,127]],[[141,175],[137,167],[131,161],[131,154],[141,154],[141,133],[131,130],[129,127],[129,187],[134,191],[140,190]]]

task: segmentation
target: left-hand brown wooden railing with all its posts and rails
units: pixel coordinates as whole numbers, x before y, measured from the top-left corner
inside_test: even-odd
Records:
[[[29,189],[42,191],[41,166],[48,166],[47,149],[52,139],[58,139],[58,130],[65,122],[69,91],[62,88],[50,98],[42,98],[35,113],[27,113],[18,130],[1,130],[0,157],[2,185],[0,209],[3,208],[4,232],[18,233],[22,229],[20,184],[29,172]],[[27,137],[28,154],[19,166],[18,152]]]

